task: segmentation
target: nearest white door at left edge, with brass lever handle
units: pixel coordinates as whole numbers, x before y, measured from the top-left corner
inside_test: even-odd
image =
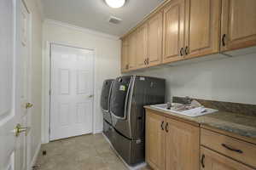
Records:
[[[20,111],[20,68],[19,52],[20,0],[0,1],[0,169],[20,170],[24,155],[20,135],[15,135],[17,123],[22,123]],[[20,129],[20,130],[25,130]]]

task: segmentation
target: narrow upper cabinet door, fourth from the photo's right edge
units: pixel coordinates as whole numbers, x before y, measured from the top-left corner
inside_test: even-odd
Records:
[[[162,59],[163,14],[148,20],[148,65],[159,65]]]

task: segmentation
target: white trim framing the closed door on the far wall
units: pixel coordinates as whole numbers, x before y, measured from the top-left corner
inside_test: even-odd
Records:
[[[51,72],[50,72],[50,52],[51,52],[51,44],[55,45],[61,45],[64,47],[70,47],[70,48],[81,48],[73,44],[69,44],[66,42],[55,42],[55,41],[46,41],[45,44],[45,50],[43,50],[43,81],[42,81],[42,144],[49,143],[49,124],[50,124],[50,77],[51,77]],[[94,99],[93,99],[93,106],[92,106],[92,133],[101,133],[97,132],[96,130],[96,101],[97,101],[97,82],[96,82],[96,48],[81,48],[81,49],[87,49],[87,50],[92,50],[93,51],[93,94],[94,94]]]

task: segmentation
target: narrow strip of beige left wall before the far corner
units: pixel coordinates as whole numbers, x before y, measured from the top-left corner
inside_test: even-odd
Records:
[[[36,0],[25,0],[32,16],[32,71],[31,71],[31,127],[32,149],[30,156],[35,156],[41,144],[41,111],[42,111],[42,16]]]

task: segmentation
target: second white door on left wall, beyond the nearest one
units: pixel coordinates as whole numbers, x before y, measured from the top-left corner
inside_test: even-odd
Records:
[[[31,22],[30,14],[24,1],[19,0],[17,16],[17,57],[20,59],[20,125],[31,127],[31,111],[26,104],[30,101],[31,94]],[[15,164],[20,170],[26,170],[30,165],[31,132],[20,133],[17,139]]]

